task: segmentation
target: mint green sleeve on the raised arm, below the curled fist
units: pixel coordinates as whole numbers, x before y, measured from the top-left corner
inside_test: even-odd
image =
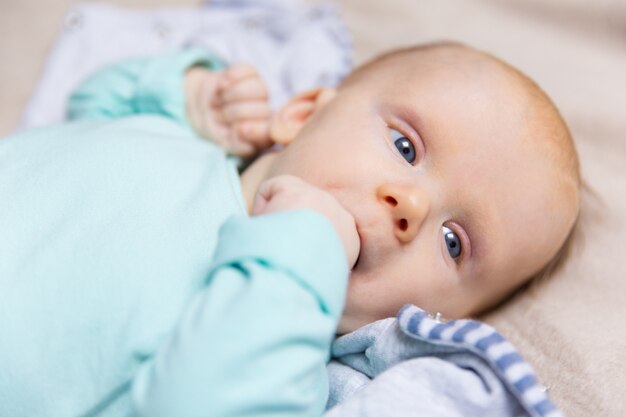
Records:
[[[133,58],[103,68],[72,93],[67,117],[103,120],[150,113],[187,124],[184,75],[195,65],[213,70],[223,68],[217,56],[202,49]]]

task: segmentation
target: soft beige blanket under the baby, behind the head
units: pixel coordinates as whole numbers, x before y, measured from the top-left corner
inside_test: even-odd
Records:
[[[75,0],[0,2],[0,135],[15,126]],[[128,6],[197,0],[117,0]],[[341,0],[356,62],[455,39],[518,66],[552,96],[578,144],[581,239],[567,267],[485,317],[537,368],[569,416],[626,410],[626,2]]]

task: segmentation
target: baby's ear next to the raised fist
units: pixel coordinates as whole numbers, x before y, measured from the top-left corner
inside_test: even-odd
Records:
[[[320,87],[294,96],[274,115],[270,125],[270,138],[275,143],[290,144],[311,116],[336,94],[337,90],[334,88]]]

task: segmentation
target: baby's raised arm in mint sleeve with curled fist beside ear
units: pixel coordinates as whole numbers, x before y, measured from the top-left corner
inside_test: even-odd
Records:
[[[71,95],[68,119],[106,120],[159,114],[241,157],[271,146],[265,83],[244,64],[222,70],[211,53],[183,50],[104,68]]]

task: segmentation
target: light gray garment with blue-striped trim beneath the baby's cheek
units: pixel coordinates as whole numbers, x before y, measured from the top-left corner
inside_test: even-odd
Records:
[[[325,417],[561,417],[532,368],[490,326],[415,306],[338,338]]]

